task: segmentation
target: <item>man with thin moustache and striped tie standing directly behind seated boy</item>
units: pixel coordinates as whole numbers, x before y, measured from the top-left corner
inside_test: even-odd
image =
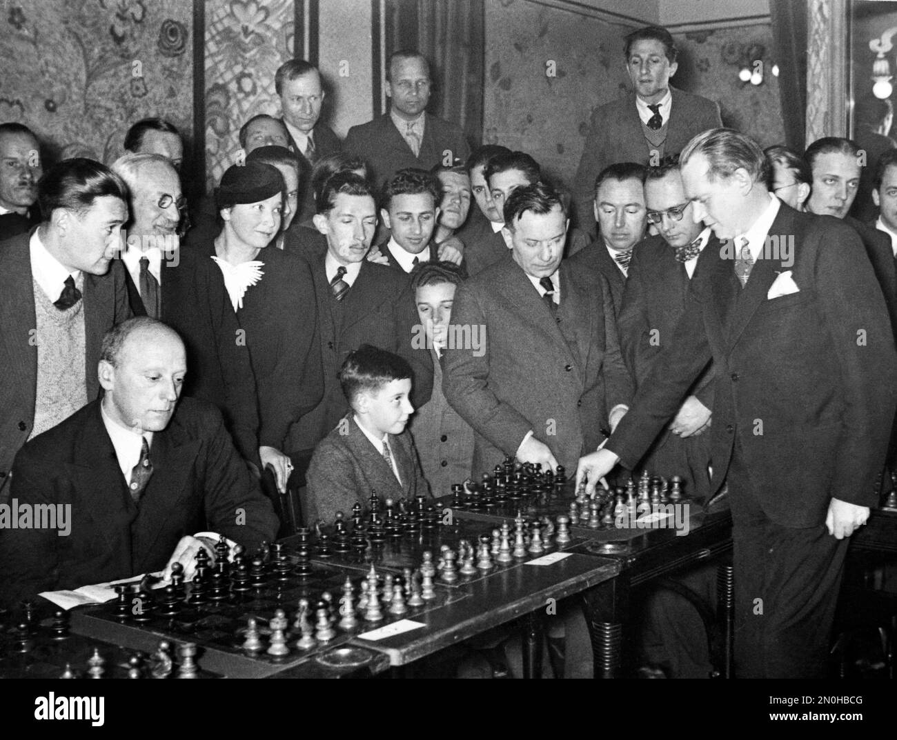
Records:
[[[315,225],[327,237],[327,252],[309,257],[324,397],[293,425],[292,450],[314,448],[347,412],[337,377],[348,353],[361,344],[407,357],[414,369],[414,405],[425,403],[432,387],[429,355],[412,349],[418,322],[407,276],[365,259],[377,225],[370,183],[353,172],[327,180],[318,197]]]

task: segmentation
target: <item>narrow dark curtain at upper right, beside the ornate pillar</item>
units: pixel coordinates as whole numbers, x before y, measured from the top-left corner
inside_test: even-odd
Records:
[[[806,0],[770,0],[770,13],[785,143],[801,153],[806,145]]]

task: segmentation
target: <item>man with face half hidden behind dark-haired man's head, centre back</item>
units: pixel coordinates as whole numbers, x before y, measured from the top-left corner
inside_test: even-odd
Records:
[[[476,201],[467,221],[455,236],[464,242],[467,273],[471,276],[497,262],[508,254],[508,244],[501,233],[504,216],[492,202],[489,183],[483,170],[497,154],[509,154],[510,150],[497,144],[483,144],[467,158],[470,187]]]

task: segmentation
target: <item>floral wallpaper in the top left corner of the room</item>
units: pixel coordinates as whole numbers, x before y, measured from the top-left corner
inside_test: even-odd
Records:
[[[55,157],[111,162],[132,123],[192,134],[191,4],[0,0],[0,121],[21,121]]]

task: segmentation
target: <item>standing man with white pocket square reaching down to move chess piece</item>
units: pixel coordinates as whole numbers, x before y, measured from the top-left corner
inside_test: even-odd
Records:
[[[897,406],[887,309],[856,233],[772,196],[753,140],[717,129],[681,156],[693,218],[726,248],[701,256],[672,344],[577,479],[591,489],[617,461],[634,466],[712,358],[711,492],[727,480],[737,675],[819,676],[847,537],[876,504]]]

